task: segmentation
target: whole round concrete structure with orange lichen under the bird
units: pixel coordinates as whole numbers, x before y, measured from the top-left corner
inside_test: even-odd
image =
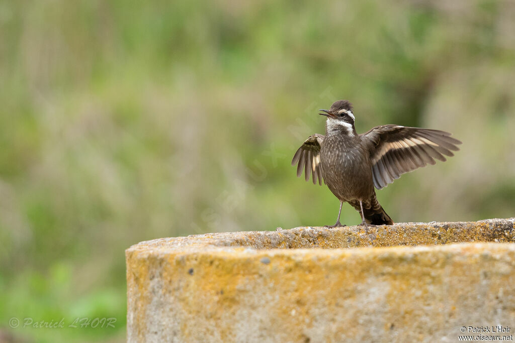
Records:
[[[126,250],[127,340],[434,342],[498,325],[510,335],[514,228],[511,218],[141,242]]]

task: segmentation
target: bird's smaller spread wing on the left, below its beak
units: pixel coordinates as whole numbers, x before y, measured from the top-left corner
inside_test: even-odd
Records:
[[[298,163],[297,176],[302,175],[302,170],[304,170],[306,181],[310,179],[311,174],[314,185],[317,184],[317,177],[319,184],[322,185],[322,171],[320,169],[320,146],[322,145],[322,140],[324,137],[324,135],[320,135],[318,133],[308,137],[291,160],[292,166],[295,166],[295,164]]]

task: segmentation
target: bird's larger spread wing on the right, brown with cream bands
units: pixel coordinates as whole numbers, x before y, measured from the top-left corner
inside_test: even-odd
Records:
[[[359,135],[370,151],[374,186],[381,189],[391,184],[401,174],[427,164],[435,159],[445,161],[454,156],[461,142],[451,134],[439,130],[407,128],[399,125],[382,125]]]

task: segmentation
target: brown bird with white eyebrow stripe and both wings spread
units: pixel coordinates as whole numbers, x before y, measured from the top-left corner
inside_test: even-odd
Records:
[[[377,201],[375,189],[382,189],[401,174],[427,164],[435,159],[445,161],[454,156],[461,141],[448,132],[410,128],[401,125],[381,125],[368,132],[357,134],[354,127],[354,110],[348,100],[338,100],[329,110],[319,110],[327,117],[325,135],[308,137],[296,151],[291,165],[297,164],[297,176],[304,171],[305,180],[317,179],[340,201],[334,228],[340,223],[341,207],[349,203],[368,225],[393,225],[393,220]]]

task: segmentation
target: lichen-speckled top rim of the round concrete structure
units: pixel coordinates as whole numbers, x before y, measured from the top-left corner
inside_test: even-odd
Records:
[[[465,242],[515,242],[515,218],[488,219],[477,222],[398,223],[375,226],[365,231],[361,226],[328,229],[298,227],[280,231],[217,232],[188,237],[162,238],[135,244],[126,250],[160,253],[169,251],[251,251],[252,249],[361,248],[417,245],[443,245]],[[334,252],[333,252],[334,254]]]

